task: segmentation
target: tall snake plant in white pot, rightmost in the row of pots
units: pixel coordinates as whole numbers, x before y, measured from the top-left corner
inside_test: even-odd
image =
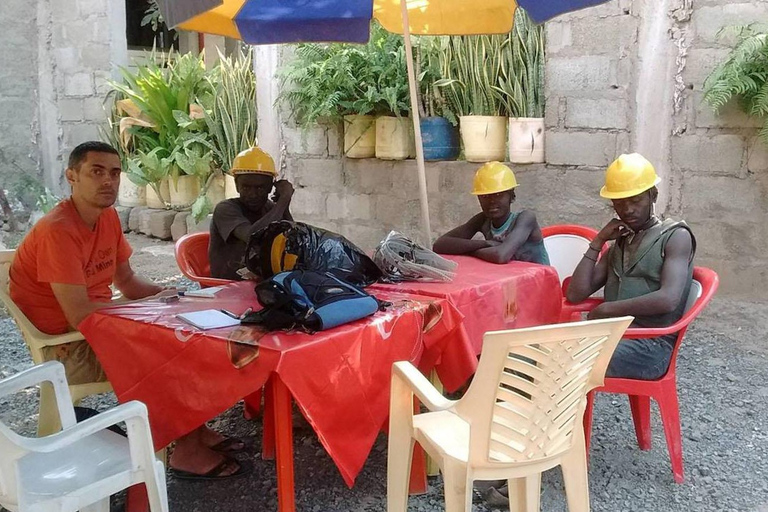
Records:
[[[502,47],[498,85],[509,116],[509,160],[544,162],[544,29],[523,9]]]

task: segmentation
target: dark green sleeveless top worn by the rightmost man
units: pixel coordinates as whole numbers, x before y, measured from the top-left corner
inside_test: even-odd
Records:
[[[608,250],[608,278],[605,283],[605,300],[625,300],[658,291],[661,288],[661,267],[664,264],[664,248],[669,237],[677,229],[691,234],[693,249],[688,262],[688,279],[680,303],[670,313],[653,316],[635,316],[634,324],[640,327],[666,327],[677,322],[685,312],[685,303],[693,282],[693,255],[696,239],[685,222],[667,219],[645,230],[643,238],[633,247],[627,238],[617,240]]]

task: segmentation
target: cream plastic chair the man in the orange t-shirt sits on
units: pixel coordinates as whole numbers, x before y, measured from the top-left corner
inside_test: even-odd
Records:
[[[10,281],[8,272],[13,263],[13,257],[16,251],[0,251],[0,300],[8,309],[13,320],[21,331],[21,336],[32,354],[32,361],[35,364],[45,362],[43,356],[44,347],[52,347],[72,341],[83,340],[83,335],[78,331],[68,332],[66,334],[51,335],[41,332],[32,322],[21,312],[19,307],[11,300],[8,294],[8,283]],[[83,398],[89,395],[108,393],[112,391],[112,385],[108,382],[93,382],[87,384],[73,384],[69,386],[69,393],[72,396],[74,404],[77,404]],[[48,385],[40,386],[40,414],[37,420],[37,435],[47,436],[57,432],[60,426],[60,420],[56,412],[55,398],[53,390]]]

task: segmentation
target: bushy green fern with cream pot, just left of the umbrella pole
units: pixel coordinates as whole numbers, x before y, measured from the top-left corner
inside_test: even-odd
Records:
[[[349,158],[375,154],[375,81],[367,46],[297,45],[279,72],[280,94],[301,128],[319,121],[343,122],[344,152]]]

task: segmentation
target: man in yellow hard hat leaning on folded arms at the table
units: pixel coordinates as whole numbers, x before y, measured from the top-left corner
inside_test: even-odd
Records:
[[[492,263],[518,260],[549,265],[536,215],[530,210],[510,211],[515,188],[515,174],[506,165],[489,162],[480,167],[472,194],[483,211],[438,238],[435,252],[468,254]],[[477,239],[478,233],[482,239]]]

